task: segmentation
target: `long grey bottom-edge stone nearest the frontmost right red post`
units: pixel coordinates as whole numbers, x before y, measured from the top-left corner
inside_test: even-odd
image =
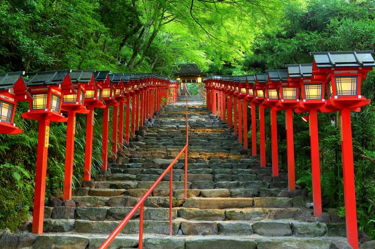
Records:
[[[331,242],[317,239],[257,239],[257,249],[330,249]]]

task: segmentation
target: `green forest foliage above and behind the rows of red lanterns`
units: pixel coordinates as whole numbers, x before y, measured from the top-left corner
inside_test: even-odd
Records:
[[[373,50],[374,0],[2,0],[0,72],[96,69],[172,76],[196,63],[210,74],[246,74],[311,63],[310,51]],[[375,239],[375,73],[362,83],[372,100],[352,114],[358,224]],[[20,135],[0,135],[0,229],[14,231],[32,205],[37,123],[20,118]],[[311,190],[308,125],[295,114],[297,181]],[[93,174],[98,172],[102,113],[95,113]],[[249,117],[249,115],[248,115]],[[269,115],[266,113],[269,156]],[[336,113],[320,114],[321,184],[326,208],[343,217]],[[286,163],[284,114],[277,115]],[[74,185],[83,176],[85,116],[78,115]],[[47,197],[61,195],[65,124],[52,124]],[[111,137],[111,136],[109,136]],[[111,141],[109,141],[111,143]]]

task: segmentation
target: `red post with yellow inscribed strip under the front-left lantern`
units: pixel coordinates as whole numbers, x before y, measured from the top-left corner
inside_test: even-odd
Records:
[[[43,233],[45,177],[47,173],[47,154],[49,140],[49,120],[39,120],[38,144],[35,170],[34,207],[32,212],[32,233]]]

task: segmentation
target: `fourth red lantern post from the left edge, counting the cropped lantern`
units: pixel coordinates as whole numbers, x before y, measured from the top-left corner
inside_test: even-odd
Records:
[[[92,75],[94,71],[92,71]],[[86,118],[86,143],[84,149],[84,173],[83,180],[91,180],[91,160],[92,160],[92,139],[94,126],[94,109],[105,108],[105,104],[101,100],[102,88],[94,81],[93,84],[85,85],[85,94],[83,104],[86,106],[88,113]]]

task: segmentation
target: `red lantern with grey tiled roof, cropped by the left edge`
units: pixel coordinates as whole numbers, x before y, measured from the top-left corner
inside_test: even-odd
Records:
[[[22,132],[13,122],[17,102],[31,100],[23,81],[23,75],[24,72],[0,74],[0,134]]]

